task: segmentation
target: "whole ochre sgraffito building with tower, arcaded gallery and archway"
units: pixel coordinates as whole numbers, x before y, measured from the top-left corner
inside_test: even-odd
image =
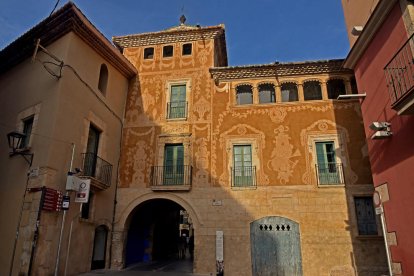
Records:
[[[223,263],[227,275],[386,271],[360,103],[337,100],[356,93],[342,60],[228,67],[222,25],[113,41],[138,71],[125,111],[114,268],[168,255],[182,232],[161,238],[169,226],[156,217],[186,213],[198,273]]]

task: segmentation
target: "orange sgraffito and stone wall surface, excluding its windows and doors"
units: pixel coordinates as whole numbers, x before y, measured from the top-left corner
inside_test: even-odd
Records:
[[[304,275],[378,275],[386,270],[381,238],[358,236],[353,195],[372,193],[365,137],[358,101],[327,99],[326,81],[349,74],[242,79],[214,83],[212,41],[193,42],[185,59],[174,44],[174,58],[163,59],[155,45],[153,59],[143,48],[126,48],[125,56],[139,70],[130,88],[123,133],[120,189],[113,239],[114,267],[125,261],[130,214],[139,204],[165,198],[180,204],[194,222],[194,271],[214,273],[215,234],[224,231],[225,271],[251,275],[250,223],[282,216],[299,223]],[[279,85],[319,80],[323,100],[281,103]],[[188,116],[166,119],[169,83],[187,84]],[[277,103],[235,105],[235,87],[273,83]],[[349,88],[350,85],[347,84]],[[301,92],[299,85],[299,92]],[[348,89],[348,93],[351,93]],[[315,141],[335,141],[345,185],[319,187]],[[193,166],[189,192],[154,192],[151,166],[163,165],[165,141],[185,145],[186,165]],[[249,143],[257,169],[257,188],[231,188],[232,145]],[[213,206],[221,200],[221,206]],[[376,252],[376,254],[373,254]]]

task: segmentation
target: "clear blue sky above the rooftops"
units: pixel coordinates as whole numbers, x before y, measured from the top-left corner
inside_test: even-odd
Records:
[[[226,26],[229,65],[345,58],[339,0],[75,0],[109,39],[187,24]],[[0,0],[0,49],[46,18],[55,0]],[[58,7],[65,4],[61,1]]]

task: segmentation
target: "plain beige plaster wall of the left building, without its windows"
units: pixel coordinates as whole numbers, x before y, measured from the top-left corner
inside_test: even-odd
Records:
[[[80,204],[74,202],[74,193],[70,194],[71,206],[66,216],[58,274],[63,275],[67,263],[67,275],[75,275],[90,270],[95,228],[106,225],[111,229],[128,79],[74,33],[68,33],[47,49],[70,65],[81,79],[65,66],[62,77],[57,80],[39,61],[30,63],[30,60],[3,74],[0,78],[0,134],[6,137],[7,132],[19,128],[25,114],[36,114],[31,137],[31,151],[34,153],[32,167],[39,168],[40,173],[29,179],[28,186],[47,186],[64,191],[72,144],[75,145],[73,169],[81,168],[81,153],[86,150],[90,124],[102,131],[98,156],[113,165],[111,187],[107,190],[93,188],[93,215],[87,221],[79,219]],[[37,59],[46,61],[50,57],[39,52]],[[102,63],[107,65],[109,71],[105,95],[98,90]],[[56,67],[51,68],[57,70]],[[6,153],[7,142],[4,138],[0,139],[2,152]],[[8,225],[0,230],[3,248],[0,253],[0,274],[6,275],[9,272],[28,165],[23,158],[16,156],[9,159],[6,154],[0,157],[0,164],[4,183],[0,218],[1,225]],[[39,196],[40,192],[26,196],[13,275],[26,273],[28,269]],[[62,214],[41,212],[39,239],[32,264],[32,271],[37,273],[35,275],[51,275],[54,272]],[[71,223],[71,248],[67,257]],[[109,243],[106,252],[109,263]]]

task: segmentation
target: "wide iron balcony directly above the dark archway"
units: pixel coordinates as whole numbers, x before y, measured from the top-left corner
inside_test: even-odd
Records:
[[[189,191],[192,182],[192,166],[153,166],[151,190]]]

